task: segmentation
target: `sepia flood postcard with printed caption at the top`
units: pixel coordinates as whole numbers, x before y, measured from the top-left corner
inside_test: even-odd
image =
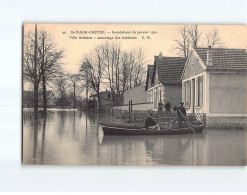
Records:
[[[246,25],[22,33],[23,165],[247,165]]]

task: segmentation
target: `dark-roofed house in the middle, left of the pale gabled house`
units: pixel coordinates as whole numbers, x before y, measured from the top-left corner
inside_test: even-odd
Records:
[[[158,103],[163,104],[173,101],[179,104],[182,100],[181,75],[186,63],[183,57],[165,57],[162,53],[154,56],[152,78],[147,78],[146,90],[148,91],[148,102],[153,102],[153,107],[158,108]],[[151,72],[150,67],[150,72]],[[150,75],[148,74],[148,77]],[[171,100],[173,99],[173,101]]]

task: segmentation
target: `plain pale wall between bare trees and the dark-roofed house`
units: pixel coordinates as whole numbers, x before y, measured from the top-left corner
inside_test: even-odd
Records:
[[[145,91],[145,86],[140,85],[124,92],[124,104],[129,104],[132,100],[133,104],[146,103],[148,101],[148,92]]]

